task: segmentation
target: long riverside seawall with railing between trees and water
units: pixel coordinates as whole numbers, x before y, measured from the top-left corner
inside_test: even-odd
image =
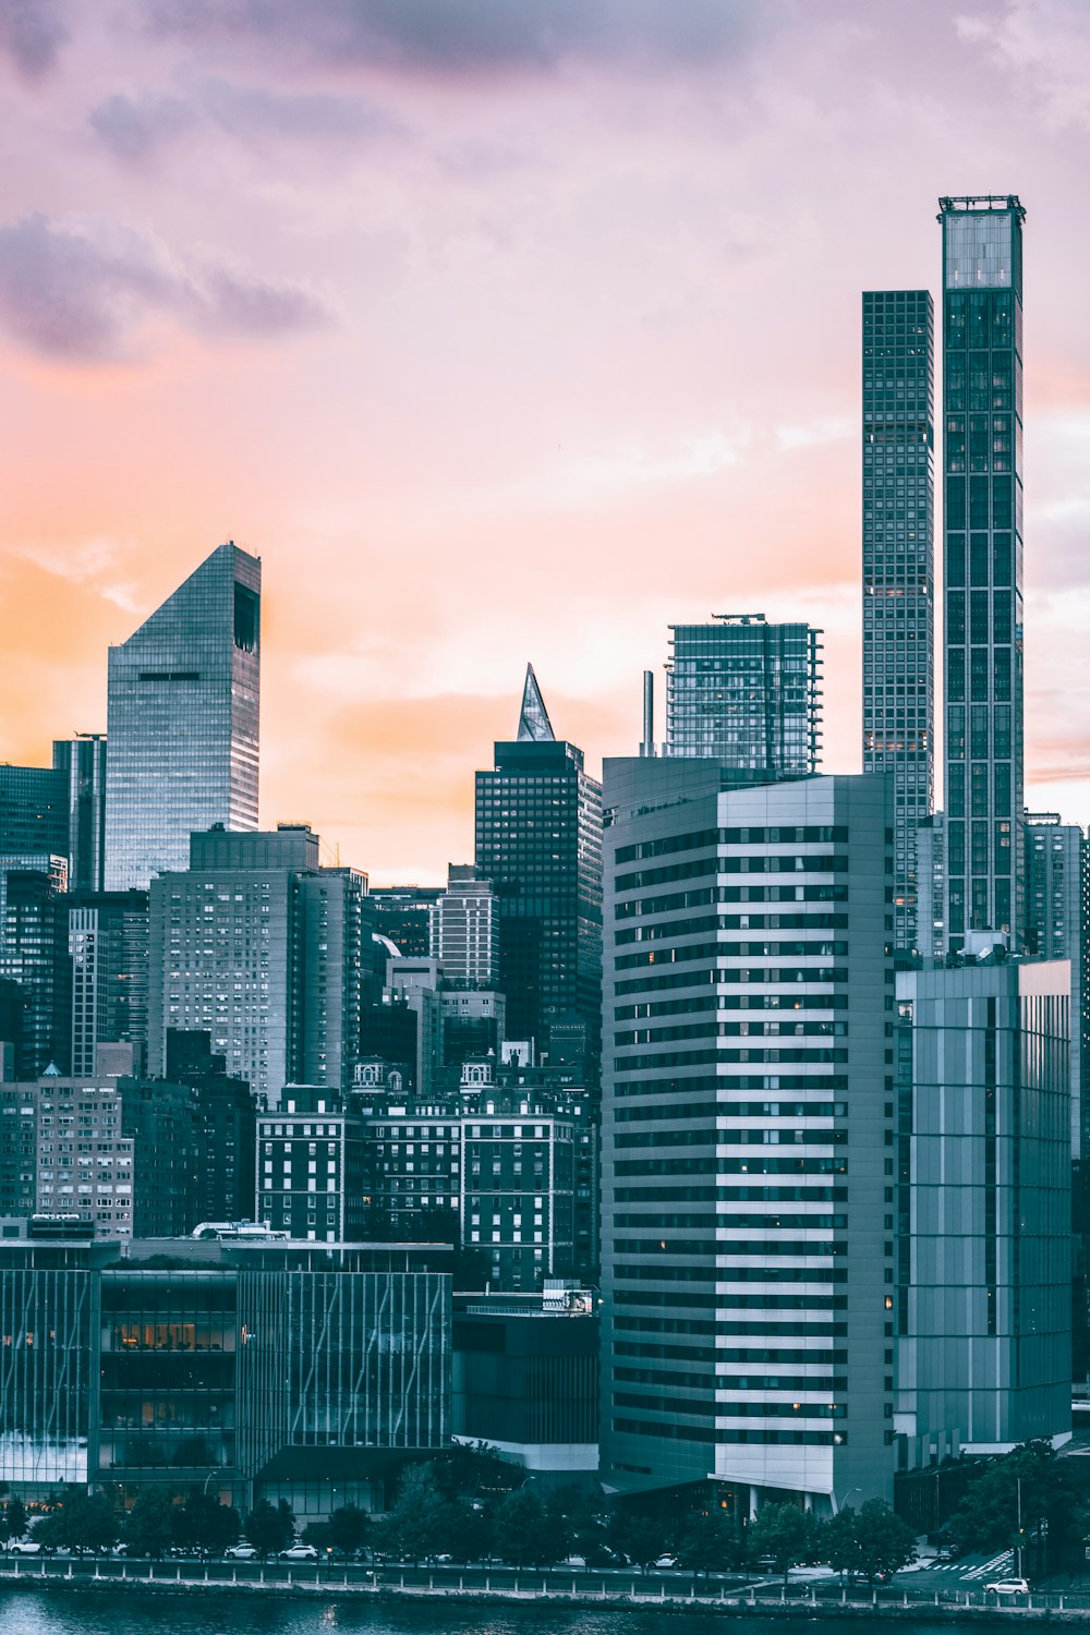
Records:
[[[90,1591],[95,1594],[137,1594],[137,1596],[155,1596],[159,1599],[170,1596],[199,1594],[204,1599],[214,1597],[263,1597],[270,1594],[286,1596],[293,1601],[338,1601],[338,1602],[360,1602],[371,1601],[379,1606],[384,1602],[417,1602],[427,1606],[435,1601],[458,1601],[459,1606],[466,1607],[495,1607],[495,1606],[518,1606],[528,1609],[556,1609],[570,1612],[662,1612],[670,1615],[699,1615],[699,1617],[719,1617],[719,1619],[778,1619],[781,1622],[788,1620],[822,1620],[822,1619],[886,1619],[891,1622],[902,1624],[964,1624],[972,1622],[982,1624],[1005,1624],[1010,1619],[1030,1619],[1030,1620],[1048,1620],[1048,1622],[1085,1622],[1090,1619],[1090,1607],[1056,1607],[1056,1606],[1034,1606],[1034,1607],[1002,1607],[1002,1606],[964,1606],[949,1601],[925,1601],[909,1599],[907,1604],[891,1602],[891,1601],[838,1601],[838,1599],[819,1599],[815,1602],[809,1601],[775,1601],[775,1599],[753,1599],[748,1596],[730,1596],[724,1592],[722,1596],[632,1596],[629,1592],[618,1594],[590,1594],[585,1591],[564,1592],[538,1589],[456,1589],[451,1586],[427,1588],[420,1584],[345,1584],[345,1583],[306,1583],[299,1579],[273,1579],[266,1583],[258,1583],[253,1579],[204,1579],[204,1578],[121,1578],[121,1576],[95,1576],[88,1575],[67,1575],[67,1573],[0,1573],[0,1592],[3,1589],[20,1589],[20,1591],[51,1591],[60,1594],[74,1594]],[[1057,1601],[1062,1596],[1046,1596],[1041,1594],[1041,1601]]]

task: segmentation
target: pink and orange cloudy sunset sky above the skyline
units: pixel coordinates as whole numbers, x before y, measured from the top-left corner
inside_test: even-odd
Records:
[[[0,760],[261,556],[261,821],[472,858],[533,661],[632,754],[668,625],[825,631],[860,768],[860,293],[1025,231],[1026,801],[1090,822],[1083,0],[0,0]],[[659,685],[659,729],[665,706]]]

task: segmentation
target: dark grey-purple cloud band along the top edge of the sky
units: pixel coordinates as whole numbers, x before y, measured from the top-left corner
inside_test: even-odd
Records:
[[[162,34],[425,74],[546,70],[570,59],[703,64],[739,54],[748,0],[145,0]]]

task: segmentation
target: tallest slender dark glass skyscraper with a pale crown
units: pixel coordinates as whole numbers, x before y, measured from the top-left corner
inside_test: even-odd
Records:
[[[940,199],[946,938],[1021,930],[1021,224],[1013,195]]]

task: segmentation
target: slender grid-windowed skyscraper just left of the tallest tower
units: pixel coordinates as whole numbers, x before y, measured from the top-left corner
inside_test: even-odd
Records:
[[[917,827],[935,800],[933,415],[930,293],[864,291],[863,770],[892,775],[899,948],[920,947]]]

